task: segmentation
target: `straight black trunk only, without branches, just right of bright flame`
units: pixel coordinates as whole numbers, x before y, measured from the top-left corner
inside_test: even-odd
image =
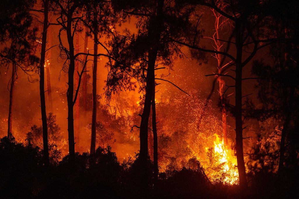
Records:
[[[241,24],[236,22],[236,79],[235,79],[235,117],[236,117],[236,154],[239,173],[239,183],[242,189],[247,187],[244,155],[243,155],[243,127],[242,127],[242,50],[243,42],[241,37]]]

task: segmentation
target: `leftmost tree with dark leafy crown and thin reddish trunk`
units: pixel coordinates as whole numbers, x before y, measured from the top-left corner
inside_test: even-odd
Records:
[[[38,58],[34,55],[36,27],[32,25],[32,16],[29,11],[34,1],[2,1],[1,13],[6,13],[0,20],[1,64],[12,65],[10,79],[10,102],[8,113],[7,137],[12,136],[13,93],[17,79],[18,68],[25,72],[34,71]]]

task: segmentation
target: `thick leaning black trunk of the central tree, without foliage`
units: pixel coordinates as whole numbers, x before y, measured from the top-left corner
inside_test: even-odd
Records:
[[[148,53],[148,66],[146,76],[146,87],[145,87],[145,100],[143,113],[141,115],[140,123],[140,175],[141,184],[144,189],[148,186],[147,179],[147,156],[148,156],[148,122],[149,114],[152,103],[152,92],[154,90],[155,82],[155,62],[158,54],[158,44],[161,37],[161,26],[162,26],[162,13],[163,13],[164,1],[157,1],[156,16],[150,19],[149,22],[149,40],[152,41],[152,45],[149,46]]]

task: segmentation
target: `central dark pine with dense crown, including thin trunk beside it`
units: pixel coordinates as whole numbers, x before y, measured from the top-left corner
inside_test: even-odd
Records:
[[[138,27],[137,36],[130,39],[128,53],[133,56],[133,60],[138,60],[131,64],[132,68],[126,71],[132,72],[130,75],[144,84],[144,106],[141,114],[140,128],[140,171],[141,182],[144,187],[147,186],[147,156],[148,156],[148,127],[149,115],[152,105],[155,103],[155,80],[164,80],[155,77],[155,70],[159,64],[171,67],[173,64],[173,56],[182,56],[180,48],[169,40],[170,36],[180,38],[186,29],[186,17],[190,12],[189,9],[177,10],[171,1],[132,1],[123,4],[116,1],[116,10],[122,10],[125,16],[134,16],[137,19],[136,27]],[[165,81],[165,80],[164,80]],[[152,112],[155,115],[155,106]],[[153,130],[155,130],[156,122],[153,117]],[[154,165],[155,175],[158,175],[157,164],[157,135],[154,131]]]

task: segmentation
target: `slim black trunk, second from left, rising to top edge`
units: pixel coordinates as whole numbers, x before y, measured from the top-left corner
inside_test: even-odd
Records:
[[[42,141],[43,141],[43,155],[45,164],[49,164],[49,149],[48,149],[48,125],[45,101],[45,56],[47,45],[47,29],[48,29],[48,4],[49,0],[44,1],[44,23],[42,32],[42,49],[40,54],[40,70],[39,70],[39,95],[40,95],[40,108],[42,113]]]

